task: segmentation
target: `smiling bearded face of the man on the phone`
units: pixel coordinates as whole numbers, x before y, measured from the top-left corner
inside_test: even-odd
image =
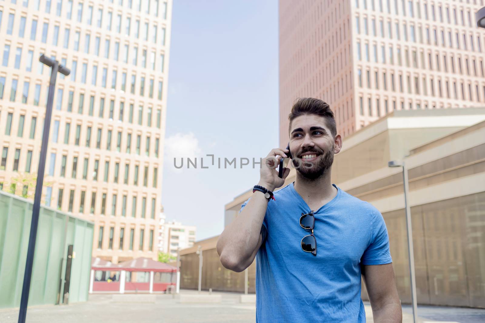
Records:
[[[315,180],[323,176],[341,147],[340,135],[332,135],[324,117],[302,115],[291,122],[290,151],[293,157],[304,163],[298,167],[295,161],[294,165],[305,178]]]

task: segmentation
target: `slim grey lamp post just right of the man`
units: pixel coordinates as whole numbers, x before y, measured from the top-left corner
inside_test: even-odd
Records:
[[[416,275],[414,273],[414,249],[413,249],[413,228],[411,225],[411,207],[409,206],[409,179],[407,177],[407,168],[403,162],[390,161],[389,167],[403,167],[404,182],[404,209],[406,210],[406,228],[407,228],[407,250],[409,253],[409,275],[411,278],[411,303],[413,305],[413,320],[418,322],[418,302],[416,300]]]

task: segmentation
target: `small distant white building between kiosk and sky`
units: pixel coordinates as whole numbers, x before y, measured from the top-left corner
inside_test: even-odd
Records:
[[[197,229],[178,221],[167,221],[162,212],[159,220],[158,250],[177,257],[178,249],[194,246]]]

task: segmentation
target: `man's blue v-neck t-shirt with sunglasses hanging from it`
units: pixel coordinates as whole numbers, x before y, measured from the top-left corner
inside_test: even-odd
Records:
[[[392,262],[388,232],[374,206],[337,189],[313,210],[316,256],[301,248],[311,232],[299,221],[310,208],[293,183],[269,201],[267,235],[256,255],[256,322],[366,321],[360,266]]]

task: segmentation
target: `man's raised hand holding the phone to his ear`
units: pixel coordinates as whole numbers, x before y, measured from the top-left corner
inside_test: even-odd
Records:
[[[275,168],[278,166],[281,158],[288,157],[286,153],[289,151],[290,150],[286,148],[274,148],[270,151],[268,156],[266,156],[262,161],[258,185],[270,191],[274,191],[285,183],[285,178],[288,176],[288,174],[290,174],[290,168],[285,168],[283,178],[278,176],[278,171],[276,171]]]

